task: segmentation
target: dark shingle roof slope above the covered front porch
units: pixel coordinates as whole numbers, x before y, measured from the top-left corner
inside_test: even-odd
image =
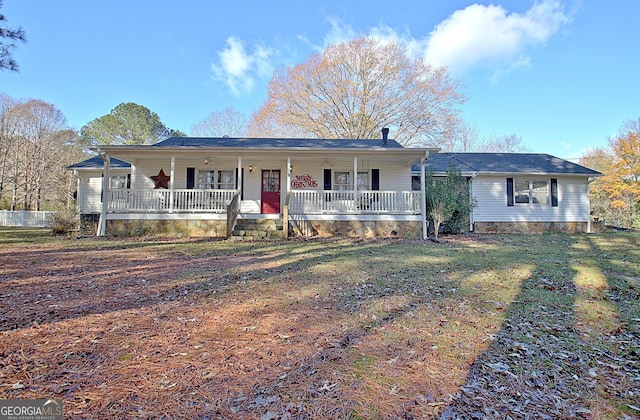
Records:
[[[402,149],[395,140],[381,139],[285,139],[285,138],[242,138],[242,137],[170,137],[154,144],[155,147],[224,147],[247,149],[302,148],[302,149]]]

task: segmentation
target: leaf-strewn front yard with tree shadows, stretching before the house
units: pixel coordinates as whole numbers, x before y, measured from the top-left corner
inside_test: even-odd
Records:
[[[639,242],[0,228],[0,397],[74,419],[638,418]]]

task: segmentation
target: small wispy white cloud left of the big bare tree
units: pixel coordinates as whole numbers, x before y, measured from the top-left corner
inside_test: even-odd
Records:
[[[226,47],[218,53],[218,62],[211,65],[213,78],[222,81],[234,95],[251,93],[256,79],[271,76],[273,63],[270,48],[257,45],[251,53],[237,37],[227,38]]]

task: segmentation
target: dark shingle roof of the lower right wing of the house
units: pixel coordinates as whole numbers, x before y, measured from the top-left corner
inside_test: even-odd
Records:
[[[462,173],[601,175],[600,172],[544,153],[436,153],[427,167],[446,172],[453,163]],[[418,167],[414,168],[419,171]]]

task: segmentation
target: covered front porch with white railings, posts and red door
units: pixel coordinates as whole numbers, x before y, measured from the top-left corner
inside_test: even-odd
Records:
[[[292,221],[410,220],[426,231],[424,177],[411,175],[425,149],[374,140],[176,138],[97,151],[104,162],[99,235],[109,220],[202,220],[226,223],[229,236],[237,220],[259,218],[281,220],[285,238]],[[112,157],[131,164],[127,182],[110,179]]]

